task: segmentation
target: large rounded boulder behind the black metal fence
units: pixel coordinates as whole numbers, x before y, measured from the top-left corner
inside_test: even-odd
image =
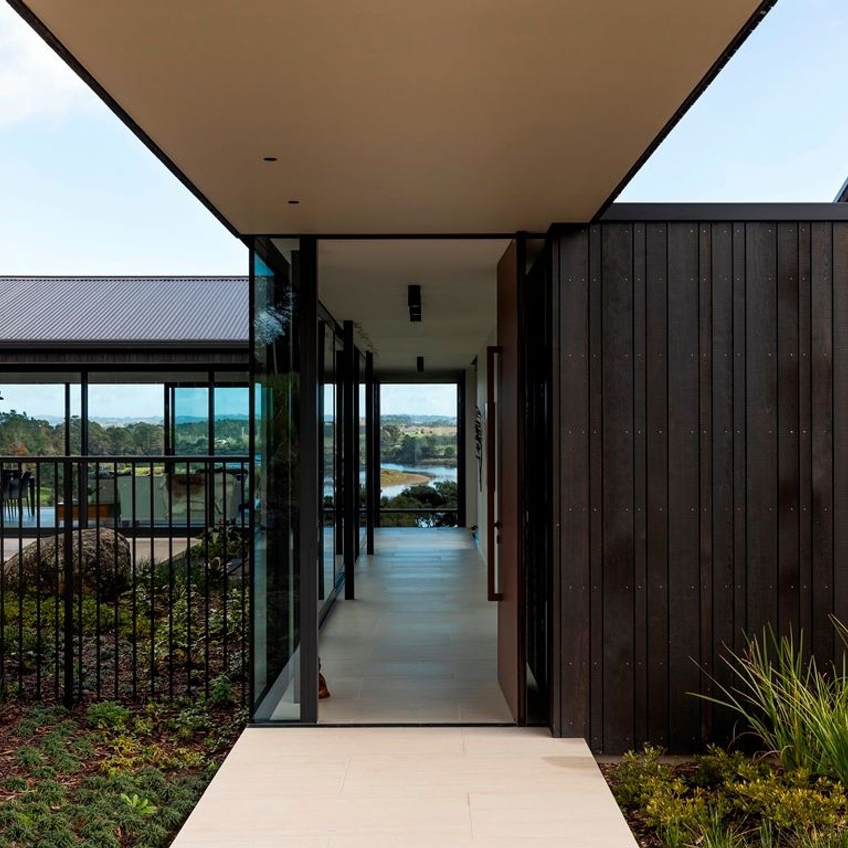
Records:
[[[59,554],[57,557],[57,549]],[[8,550],[8,549],[7,549]],[[105,527],[74,531],[74,589],[83,594],[111,600],[130,586],[132,555],[130,543],[120,533]],[[58,567],[57,567],[58,563]],[[10,557],[4,566],[6,588],[40,590],[42,594],[64,593],[64,533],[31,542]]]

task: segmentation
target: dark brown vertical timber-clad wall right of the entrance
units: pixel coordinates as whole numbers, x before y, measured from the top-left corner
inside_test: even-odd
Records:
[[[848,620],[848,221],[612,217],[553,243],[552,723],[689,751],[726,645]]]

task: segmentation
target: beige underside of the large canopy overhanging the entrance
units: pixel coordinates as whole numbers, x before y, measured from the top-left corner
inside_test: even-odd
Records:
[[[238,232],[377,234],[589,220],[758,0],[27,5]]]

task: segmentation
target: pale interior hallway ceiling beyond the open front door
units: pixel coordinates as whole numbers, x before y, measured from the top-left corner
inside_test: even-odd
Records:
[[[354,321],[377,373],[466,368],[496,322],[500,239],[320,241],[318,293],[337,321]],[[410,323],[407,286],[421,286],[421,323]]]

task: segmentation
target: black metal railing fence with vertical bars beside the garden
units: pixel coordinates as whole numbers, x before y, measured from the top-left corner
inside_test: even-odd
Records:
[[[247,456],[0,457],[0,698],[248,698]],[[16,483],[15,483],[16,482]]]

